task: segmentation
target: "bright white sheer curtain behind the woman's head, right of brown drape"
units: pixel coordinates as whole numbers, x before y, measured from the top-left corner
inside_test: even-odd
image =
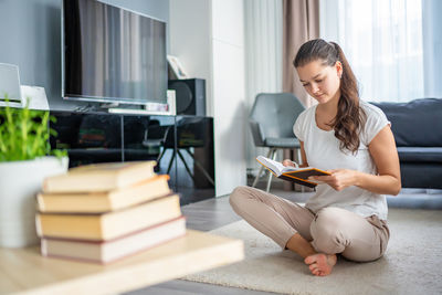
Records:
[[[322,0],[320,36],[344,50],[369,102],[424,96],[422,0]]]

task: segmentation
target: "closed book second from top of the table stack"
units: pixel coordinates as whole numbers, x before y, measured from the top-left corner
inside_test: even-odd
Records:
[[[130,187],[98,192],[39,193],[40,212],[101,213],[170,194],[169,176],[155,176]]]

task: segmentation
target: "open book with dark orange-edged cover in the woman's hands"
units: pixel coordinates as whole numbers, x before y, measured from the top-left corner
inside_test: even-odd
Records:
[[[256,160],[267,168],[275,177],[288,180],[309,188],[316,187],[319,181],[307,180],[311,176],[329,176],[330,173],[313,167],[296,168],[293,166],[284,166],[278,161],[257,156]]]

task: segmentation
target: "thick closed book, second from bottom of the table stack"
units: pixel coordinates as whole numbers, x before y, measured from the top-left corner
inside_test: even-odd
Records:
[[[39,236],[110,240],[181,215],[179,196],[171,194],[107,213],[36,214]]]

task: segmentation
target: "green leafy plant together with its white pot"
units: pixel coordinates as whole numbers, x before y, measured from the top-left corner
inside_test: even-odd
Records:
[[[38,242],[35,194],[43,179],[65,172],[66,151],[51,152],[49,112],[0,108],[0,246],[21,247]],[[54,155],[54,156],[48,156]]]

